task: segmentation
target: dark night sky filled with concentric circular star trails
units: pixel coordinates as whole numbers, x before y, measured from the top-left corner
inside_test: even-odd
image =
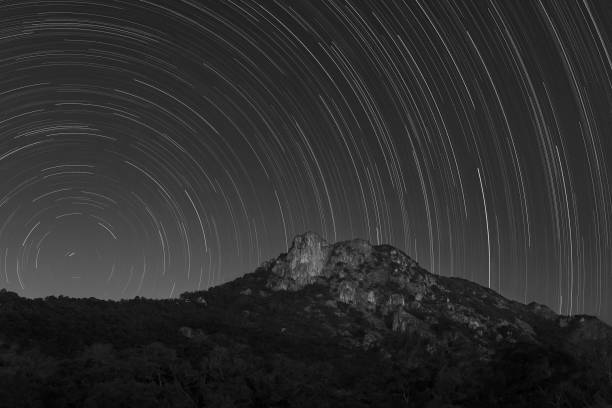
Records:
[[[612,2],[0,3],[0,287],[176,297],[307,230],[612,320]]]

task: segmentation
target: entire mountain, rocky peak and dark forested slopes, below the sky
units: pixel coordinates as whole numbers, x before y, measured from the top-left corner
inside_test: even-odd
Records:
[[[0,292],[0,407],[612,407],[612,329],[296,237],[179,300]]]

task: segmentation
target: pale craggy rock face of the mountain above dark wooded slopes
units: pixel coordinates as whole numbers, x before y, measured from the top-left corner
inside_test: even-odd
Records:
[[[272,292],[300,292],[318,285],[309,292],[318,294],[309,310],[331,307],[341,314],[346,306],[362,313],[369,322],[365,347],[377,344],[385,330],[418,333],[442,348],[461,338],[489,351],[517,342],[541,346],[547,343],[544,332],[549,327],[571,329],[574,334],[566,334],[568,339],[611,335],[606,325],[573,324],[576,318],[558,316],[544,305],[523,305],[476,283],[434,275],[401,250],[362,239],[328,243],[307,232],[260,270],[265,288]],[[546,329],[537,329],[541,327]]]

